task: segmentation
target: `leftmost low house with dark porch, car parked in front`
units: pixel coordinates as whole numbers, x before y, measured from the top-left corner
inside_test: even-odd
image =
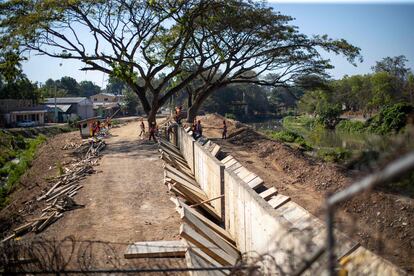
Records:
[[[18,123],[30,121],[35,126],[44,125],[47,109],[32,100],[0,100],[0,127],[16,127]]]

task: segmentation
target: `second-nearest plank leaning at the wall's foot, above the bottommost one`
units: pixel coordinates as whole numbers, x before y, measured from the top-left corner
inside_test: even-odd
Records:
[[[181,224],[180,235],[222,265],[234,265],[237,262],[237,258],[227,254],[223,249],[197,233],[187,223]]]

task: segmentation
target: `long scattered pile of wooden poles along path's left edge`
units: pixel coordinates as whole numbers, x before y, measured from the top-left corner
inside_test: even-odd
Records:
[[[80,181],[95,172],[93,166],[97,165],[100,151],[105,147],[102,140],[91,140],[89,149],[83,160],[64,168],[65,173],[52,179],[52,187],[43,191],[37,201],[45,202],[45,208],[39,217],[29,219],[24,225],[17,227],[13,233],[1,242],[22,236],[28,232],[39,233],[63,216],[63,213],[81,208],[73,197],[83,188]]]

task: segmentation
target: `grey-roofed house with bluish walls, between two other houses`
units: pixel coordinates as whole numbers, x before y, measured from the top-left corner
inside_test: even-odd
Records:
[[[93,105],[86,97],[46,98],[49,122],[67,122],[69,119],[93,117]],[[57,120],[56,120],[57,117]]]

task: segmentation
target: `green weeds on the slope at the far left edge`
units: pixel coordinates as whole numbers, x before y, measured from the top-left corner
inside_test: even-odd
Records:
[[[16,188],[20,177],[30,167],[37,147],[44,141],[46,141],[46,136],[44,135],[39,135],[35,139],[25,139],[24,148],[13,149],[14,153],[9,155],[9,157],[14,156],[17,162],[9,160],[0,169],[0,177],[5,179],[0,187],[0,209],[8,204],[9,194]]]

